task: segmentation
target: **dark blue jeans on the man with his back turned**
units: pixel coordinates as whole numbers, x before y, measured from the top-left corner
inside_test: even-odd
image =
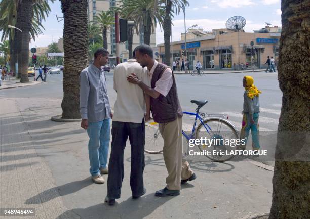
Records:
[[[107,196],[110,199],[121,197],[124,179],[124,150],[129,137],[131,145],[130,187],[133,196],[143,193],[145,124],[131,122],[112,123],[112,144],[109,159]]]

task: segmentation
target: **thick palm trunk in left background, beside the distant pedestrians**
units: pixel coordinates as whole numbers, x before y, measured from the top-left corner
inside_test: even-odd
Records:
[[[21,78],[20,82],[25,83],[29,82],[28,78],[28,62],[29,62],[29,41],[30,41],[30,28],[32,25],[32,0],[23,0],[18,7],[18,10],[20,11],[20,14],[17,15],[21,17],[21,30],[23,31],[21,33],[21,50],[19,54],[20,58],[20,72],[21,72]]]

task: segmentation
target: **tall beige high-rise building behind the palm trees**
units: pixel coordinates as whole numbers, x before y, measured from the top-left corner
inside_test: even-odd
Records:
[[[88,21],[96,22],[95,16],[101,13],[102,11],[108,11],[110,7],[118,6],[120,5],[119,0],[88,0]],[[133,37],[133,48],[143,43],[143,30],[140,28],[140,33],[137,34],[136,31],[134,31],[134,37]],[[110,52],[110,58],[109,62],[110,65],[116,64],[116,44],[115,44],[115,25],[112,25],[112,27],[108,30],[108,37],[107,37],[107,43],[108,43],[108,51]],[[153,33],[150,38],[150,46],[156,47],[156,33]],[[123,42],[120,43],[120,57],[121,60],[127,61],[128,59],[128,43]]]

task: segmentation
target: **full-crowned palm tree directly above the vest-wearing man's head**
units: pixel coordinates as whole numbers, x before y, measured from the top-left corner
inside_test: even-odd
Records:
[[[151,34],[154,32],[157,23],[163,26],[165,17],[165,8],[158,0],[130,0],[122,1],[129,17],[135,21],[136,33],[139,33],[139,27],[143,28],[144,43],[150,44]]]

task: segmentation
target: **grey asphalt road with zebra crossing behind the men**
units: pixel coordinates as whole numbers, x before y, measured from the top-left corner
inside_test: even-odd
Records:
[[[254,77],[254,83],[260,95],[261,131],[277,130],[281,111],[282,92],[279,89],[277,73],[255,72],[247,73]],[[113,73],[106,73],[108,95],[113,106],[116,93],[113,90]],[[210,114],[228,114],[229,121],[237,129],[241,128],[243,109],[242,78],[243,73],[235,74],[206,74],[203,76],[176,75],[178,95],[183,111],[195,112],[196,105],[190,100],[208,100],[209,102],[201,109],[201,112]],[[20,87],[19,89],[3,90],[1,97],[27,98],[45,97],[62,99],[61,74],[48,75],[47,82],[35,86]],[[29,77],[34,80],[34,77]],[[184,116],[184,122],[191,124],[192,118]]]

